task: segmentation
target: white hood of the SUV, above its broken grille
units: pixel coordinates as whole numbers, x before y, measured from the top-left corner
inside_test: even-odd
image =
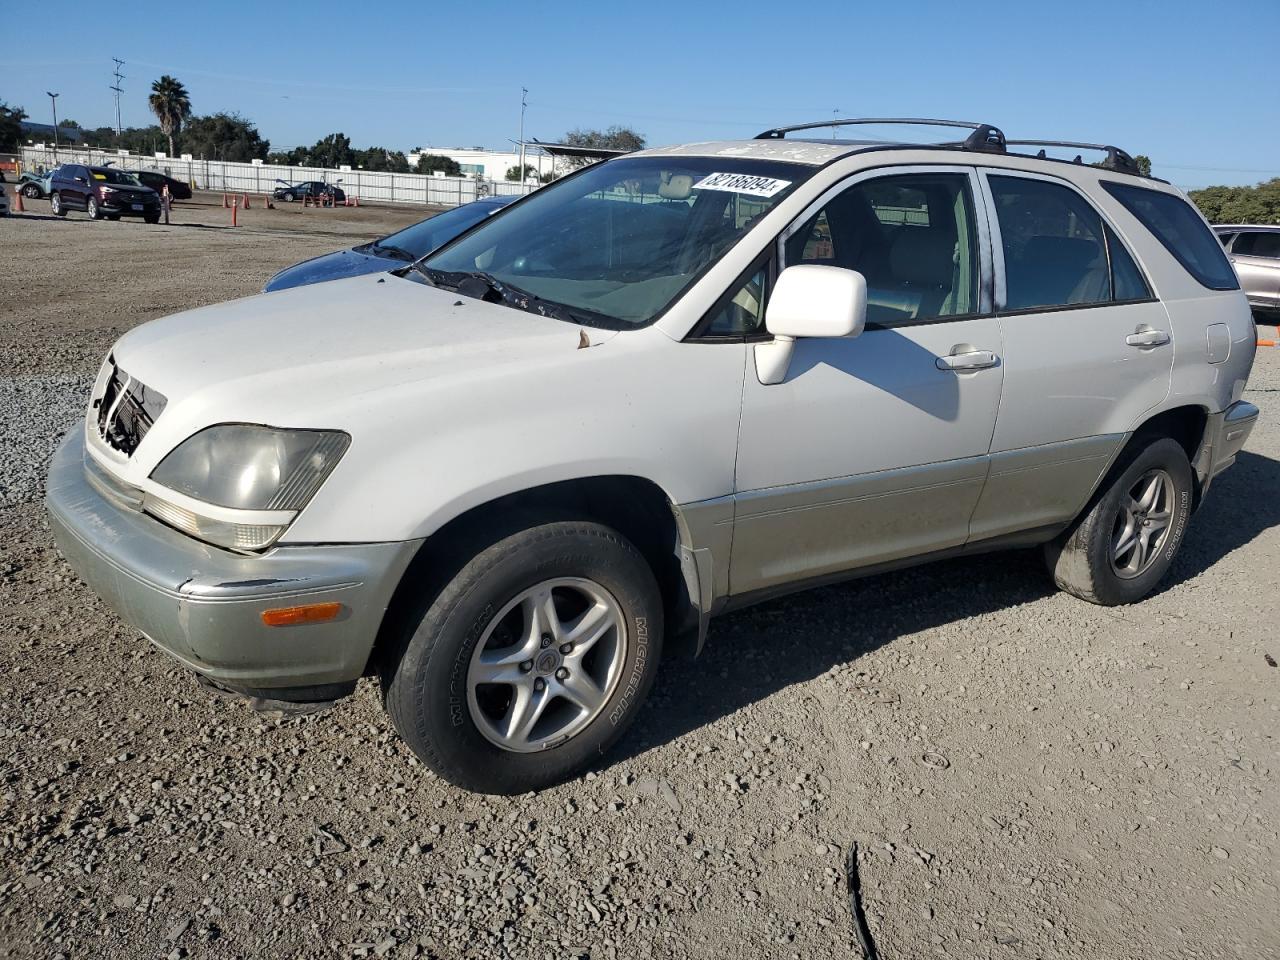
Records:
[[[590,346],[616,335],[585,334]],[[113,355],[168,399],[134,457],[143,466],[218,422],[358,433],[371,415],[439,416],[474,392],[582,364],[582,337],[573,324],[380,274],[154,320]]]

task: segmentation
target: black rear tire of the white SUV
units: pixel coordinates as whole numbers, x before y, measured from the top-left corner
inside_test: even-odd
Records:
[[[1160,502],[1129,509],[1134,488],[1143,484],[1143,489],[1151,489],[1148,484],[1155,479],[1162,489]],[[1105,607],[1137,603],[1169,572],[1187,532],[1193,495],[1192,467],[1181,444],[1167,436],[1135,439],[1084,512],[1061,536],[1044,545],[1044,561],[1055,582],[1089,603]],[[1115,556],[1117,547],[1129,543],[1128,530],[1142,531],[1148,513],[1151,522],[1157,524],[1166,511],[1167,526],[1148,535],[1152,548],[1146,559],[1138,562],[1133,552],[1137,547]],[[1120,559],[1133,568],[1120,572]]]

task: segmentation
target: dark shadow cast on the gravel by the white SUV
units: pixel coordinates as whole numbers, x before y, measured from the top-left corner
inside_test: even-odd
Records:
[[[1276,490],[1280,462],[1242,453],[1213,481],[1164,589],[1204,573],[1280,526]],[[1032,603],[1055,589],[1039,550],[1016,550],[852,580],[717,618],[699,659],[663,664],[635,726],[603,765],[854,663],[900,636]]]

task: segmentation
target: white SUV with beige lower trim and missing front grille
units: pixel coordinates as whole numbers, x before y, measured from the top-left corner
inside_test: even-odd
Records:
[[[788,590],[1042,544],[1062,589],[1140,599],[1258,415],[1221,246],[1114,147],[787,136],[828,125],[132,330],[51,467],[64,554],[220,687],[379,676],[492,792],[598,762],[664,653]]]

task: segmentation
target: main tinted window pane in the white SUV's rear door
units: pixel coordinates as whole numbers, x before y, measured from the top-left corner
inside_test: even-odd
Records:
[[[1111,300],[1106,241],[1097,210],[1075,191],[1056,183],[1025,177],[987,179],[1005,251],[1006,310]]]

